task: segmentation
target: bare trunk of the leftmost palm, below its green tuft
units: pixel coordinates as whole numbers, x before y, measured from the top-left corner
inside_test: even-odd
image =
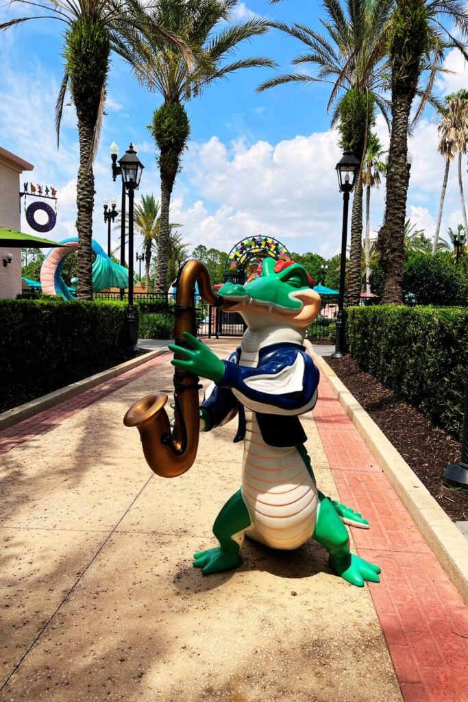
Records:
[[[93,141],[93,126],[88,115],[82,115],[77,109],[79,135],[79,169],[76,180],[76,230],[78,232],[78,253],[76,267],[78,286],[76,298],[79,300],[93,299],[93,251],[91,237],[93,236],[94,208],[94,173],[91,165],[91,144]]]

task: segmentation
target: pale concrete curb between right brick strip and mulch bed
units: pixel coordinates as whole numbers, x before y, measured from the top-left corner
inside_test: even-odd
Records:
[[[335,396],[359,430],[370,451],[382,466],[396,494],[415,520],[436,559],[468,604],[468,541],[455,527],[440,505],[373,419],[328,366],[323,357],[317,356],[312,345],[307,350],[314,357]]]

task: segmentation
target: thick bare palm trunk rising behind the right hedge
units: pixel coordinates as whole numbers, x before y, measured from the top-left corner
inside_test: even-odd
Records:
[[[377,239],[380,265],[384,273],[382,303],[401,305],[403,260],[405,244],[403,230],[406,218],[406,199],[410,173],[408,156],[408,120],[413,95],[394,86],[392,91],[392,133],[390,135],[387,169],[387,197],[384,223]]]

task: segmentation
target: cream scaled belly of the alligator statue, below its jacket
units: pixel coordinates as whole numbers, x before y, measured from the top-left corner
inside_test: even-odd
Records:
[[[272,548],[298,548],[312,537],[317,489],[295,447],[267,446],[255,412],[246,409],[242,497],[252,526],[248,536]]]

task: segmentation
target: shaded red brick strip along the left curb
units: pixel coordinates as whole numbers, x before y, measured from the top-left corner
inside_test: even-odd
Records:
[[[72,414],[76,414],[76,412],[81,411],[90,404],[98,402],[102,397],[119,390],[123,385],[131,383],[135,378],[142,376],[148,371],[152,371],[156,366],[166,363],[168,355],[169,352],[165,352],[160,356],[156,356],[152,361],[148,361],[131,371],[122,373],[121,376],[106,380],[105,383],[100,383],[100,385],[95,385],[94,388],[84,390],[80,392],[79,395],[64,400],[64,402],[60,402],[60,404],[51,409],[46,409],[43,412],[39,412],[32,417],[22,420],[22,422],[18,422],[18,424],[1,430],[0,456],[2,453],[7,453],[11,449],[14,449],[15,446],[18,446],[18,444],[22,444],[38,434],[44,434],[44,432],[50,431],[64,419],[71,417]]]

